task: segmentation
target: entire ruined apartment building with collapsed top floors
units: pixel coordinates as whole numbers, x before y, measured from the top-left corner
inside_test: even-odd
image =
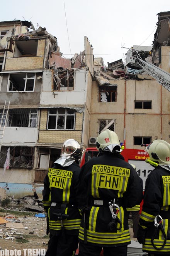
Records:
[[[158,14],[153,47],[133,47],[151,52],[147,60],[168,73],[169,19],[170,12]],[[102,58],[93,58],[87,36],[84,50],[65,59],[45,28],[21,21],[14,27],[0,22],[1,34],[6,33],[0,47],[9,49],[0,52],[0,187],[8,186],[16,196],[32,189],[40,195],[63,142],[74,138],[84,148],[95,147],[106,128],[126,148],[139,149],[155,139],[170,143],[170,95],[150,74],[126,67],[122,59],[105,67]],[[10,168],[3,175],[8,148]]]

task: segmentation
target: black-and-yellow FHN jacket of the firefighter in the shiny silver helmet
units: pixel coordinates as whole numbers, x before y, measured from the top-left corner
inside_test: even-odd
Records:
[[[78,210],[77,191],[80,166],[76,163],[63,167],[54,164],[44,179],[43,204],[48,211],[50,234],[58,235],[61,230],[61,221],[56,214],[67,214],[63,218],[66,234],[78,234],[81,215]]]

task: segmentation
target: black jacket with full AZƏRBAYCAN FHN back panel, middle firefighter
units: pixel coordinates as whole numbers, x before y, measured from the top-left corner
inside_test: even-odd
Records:
[[[84,232],[87,232],[87,242],[95,245],[130,244],[128,222],[125,218],[126,207],[140,204],[143,190],[138,174],[124,161],[124,157],[114,153],[102,154],[90,159],[82,166],[79,190],[79,206],[88,208],[85,214],[86,230],[84,218],[80,225],[80,241],[84,241]],[[109,201],[115,202],[120,207],[117,214],[122,223],[120,230],[110,231],[108,226],[112,221]],[[119,223],[117,228],[120,228]]]

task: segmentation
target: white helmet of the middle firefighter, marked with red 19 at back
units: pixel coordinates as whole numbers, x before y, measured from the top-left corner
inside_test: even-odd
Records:
[[[99,152],[108,151],[108,152],[121,152],[121,145],[119,138],[114,131],[106,129],[102,131],[97,137],[96,147]]]

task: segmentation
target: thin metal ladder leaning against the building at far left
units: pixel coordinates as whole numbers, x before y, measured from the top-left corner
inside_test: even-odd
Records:
[[[9,110],[10,100],[5,100],[5,105],[3,107],[3,112],[0,114],[0,152],[2,147],[2,139],[3,139],[3,133],[5,130],[5,125],[8,118],[8,110]]]

